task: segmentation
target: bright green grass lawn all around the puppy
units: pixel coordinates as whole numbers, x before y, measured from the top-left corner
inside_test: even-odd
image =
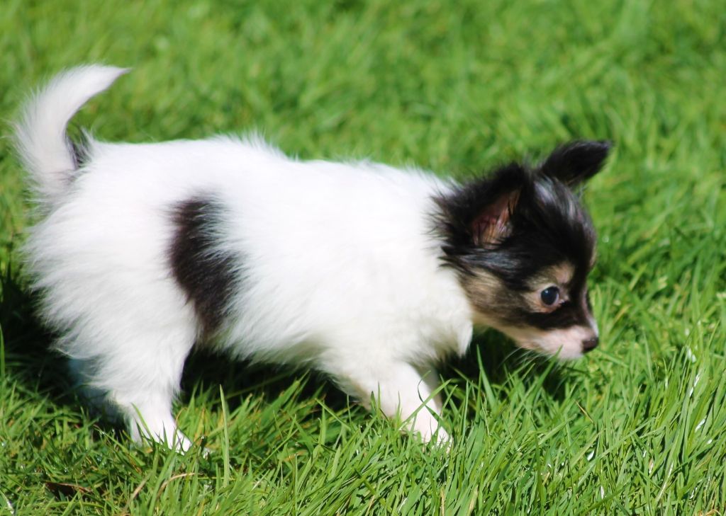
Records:
[[[531,362],[479,336],[443,371],[446,453],[315,375],[194,356],[208,457],[81,408],[33,318],[23,172],[0,139],[0,515],[726,514],[721,1],[4,0],[3,135],[30,88],[134,72],[78,125],[129,141],[257,130],[301,157],[465,177],[571,138],[616,150],[586,199],[601,346]],[[221,387],[220,387],[221,386]]]

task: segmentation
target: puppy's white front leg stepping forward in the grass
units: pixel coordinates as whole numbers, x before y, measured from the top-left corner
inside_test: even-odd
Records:
[[[439,378],[435,371],[422,374],[407,362],[378,362],[374,367],[349,369],[340,380],[367,408],[373,396],[383,414],[400,418],[424,442],[433,438],[440,444],[449,441],[449,434],[437,418],[441,414],[441,397],[436,392]]]

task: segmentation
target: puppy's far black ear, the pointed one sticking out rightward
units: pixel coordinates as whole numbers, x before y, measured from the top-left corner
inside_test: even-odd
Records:
[[[567,186],[577,186],[600,172],[610,152],[608,141],[574,141],[552,151],[539,172]]]

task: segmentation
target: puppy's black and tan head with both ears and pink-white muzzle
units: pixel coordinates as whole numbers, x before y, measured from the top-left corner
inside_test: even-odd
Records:
[[[508,165],[437,200],[444,261],[478,322],[562,359],[597,346],[587,296],[595,230],[573,189],[600,170],[609,149],[569,143],[537,167]]]

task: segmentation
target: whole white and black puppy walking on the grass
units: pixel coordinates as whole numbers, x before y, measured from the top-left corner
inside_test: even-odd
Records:
[[[255,138],[70,143],[70,117],[125,71],[58,75],[16,130],[42,216],[25,248],[42,313],[137,440],[190,446],[171,403],[195,345],[313,367],[426,441],[446,439],[433,367],[473,324],[560,358],[597,345],[595,231],[571,188],[608,143],[465,184]]]

